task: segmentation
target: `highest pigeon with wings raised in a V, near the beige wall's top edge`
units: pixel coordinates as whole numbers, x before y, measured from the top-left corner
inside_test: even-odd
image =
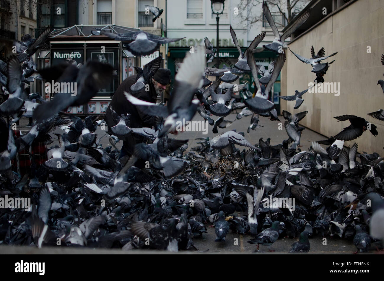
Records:
[[[266,50],[273,51],[275,53],[283,53],[283,45],[286,38],[288,38],[293,31],[298,29],[305,21],[308,19],[311,13],[311,9],[308,9],[303,15],[301,15],[298,20],[295,21],[295,23],[287,30],[283,35],[280,36],[280,33],[276,27],[275,21],[273,20],[273,16],[271,14],[271,11],[268,8],[268,4],[263,1],[263,12],[265,15],[266,20],[268,21],[269,25],[272,28],[273,35],[275,35],[275,39],[273,39],[271,44],[263,45],[263,47]]]

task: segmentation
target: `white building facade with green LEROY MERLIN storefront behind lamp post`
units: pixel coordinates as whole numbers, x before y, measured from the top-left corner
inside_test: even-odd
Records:
[[[282,1],[284,2],[284,1]],[[308,2],[308,1],[307,1]],[[170,38],[184,38],[180,41],[168,44],[168,68],[172,72],[174,78],[177,69],[175,62],[181,62],[185,57],[185,53],[190,50],[190,46],[204,45],[204,37],[207,37],[214,48],[216,47],[217,22],[216,15],[212,13],[210,1],[205,0],[167,0],[167,20],[166,34]],[[254,5],[245,5],[246,1],[242,0],[225,0],[224,10],[219,15],[219,53],[220,64],[230,68],[237,62],[239,53],[230,34],[230,25],[232,25],[238,39],[238,43],[244,51],[247,46],[258,34],[266,32],[265,38],[259,44],[258,49],[262,45],[271,43],[274,39],[272,29],[263,17],[262,2]],[[256,2],[255,2],[256,3]],[[270,5],[273,12],[276,25],[281,31],[286,25],[281,12],[275,6]],[[280,25],[278,24],[280,23]],[[276,59],[276,54],[270,51],[262,51],[254,54],[257,64],[267,66],[271,61]],[[209,67],[217,67],[217,58],[207,64]],[[208,77],[214,81],[214,77]],[[253,77],[250,73],[245,73],[235,81],[235,83],[248,82],[248,89],[253,93],[255,88],[253,85]],[[280,93],[280,77],[276,81],[273,88],[274,95]],[[270,100],[273,97],[270,96]],[[274,99],[277,107],[278,98]]]

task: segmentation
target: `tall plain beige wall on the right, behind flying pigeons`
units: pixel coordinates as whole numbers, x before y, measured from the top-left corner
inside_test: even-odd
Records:
[[[377,126],[378,136],[364,132],[358,139],[345,142],[345,145],[357,142],[358,152],[380,154],[384,123],[367,113],[384,106],[383,92],[377,85],[384,73],[380,62],[384,53],[384,1],[312,1],[305,10],[308,8],[312,8],[310,19],[288,46],[306,58],[310,57],[311,46],[316,52],[324,47],[326,55],[338,52],[326,60],[336,60],[324,76],[325,82],[332,84],[327,84],[324,87],[327,90],[323,92],[331,93],[306,93],[299,109],[293,109],[295,102],[285,101],[281,103],[282,109],[293,113],[308,110],[300,123],[327,137],[335,136],[349,126],[348,121],[337,122],[334,116],[351,114],[363,117]],[[323,13],[324,8],[326,13]],[[287,61],[281,74],[284,96],[309,88],[308,83],[316,77],[311,73],[311,66],[299,61],[289,50],[286,50],[286,55]],[[331,86],[333,90],[329,91]]]

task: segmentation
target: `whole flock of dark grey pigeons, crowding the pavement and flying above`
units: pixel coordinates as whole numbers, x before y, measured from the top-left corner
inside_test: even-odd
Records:
[[[152,9],[154,20],[159,16],[156,9]],[[82,120],[63,111],[95,96],[108,83],[111,66],[96,61],[79,66],[73,61],[38,71],[31,56],[45,44],[51,28],[36,39],[26,36],[15,42],[18,56],[0,63],[0,195],[29,197],[32,206],[30,212],[0,208],[0,243],[34,244],[39,248],[67,245],[201,250],[195,247],[194,240],[207,233],[207,226],[214,226],[215,241],[228,243],[224,242],[225,236],[235,231],[249,235],[248,242],[258,244],[257,249],[266,245],[270,250],[279,237],[286,236],[299,237],[290,252],[308,252],[309,238],[314,236],[339,236],[354,243],[356,252],[371,251],[371,246],[382,248],[384,162],[377,153],[361,154],[358,161],[358,145],[344,147],[344,141],[356,139],[366,130],[377,135],[376,126],[364,118],[335,117],[338,121],[349,120],[351,125],[334,137],[312,142],[308,150],[300,149],[304,128],[299,125],[307,111],[283,111],[288,136],[278,145],[271,145],[270,138],[252,144],[236,130],[212,139],[203,137],[198,147],[188,150],[188,140],[169,137],[177,121],[191,120],[196,112],[209,121],[214,133],[217,127],[232,124],[224,117],[235,109],[242,109],[237,119],[252,116],[248,132],[260,127],[260,116],[280,121],[268,93],[285,62],[284,41],[305,22],[310,11],[282,36],[266,2],[263,12],[275,34],[275,40],[263,48],[277,54],[268,69],[258,66],[253,57],[265,33],[256,36],[242,52],[231,26],[233,43],[240,53],[233,68],[206,67],[207,56],[212,59],[215,53],[206,39],[205,47],[194,48],[179,65],[167,106],[126,93],[132,104],[157,116],[156,127],[132,128],[129,114],[114,114],[116,126],[108,128],[107,136],[99,137],[95,131],[105,125],[103,115]],[[93,34],[130,41],[124,45],[135,55],[150,54],[160,44],[179,40],[144,31],[116,34],[96,30]],[[329,57],[324,48],[316,55],[312,48],[310,59],[295,56],[313,66],[318,83],[324,81],[331,64],[321,63]],[[149,83],[156,73],[152,67],[159,68],[159,62],[136,69],[141,74],[132,93]],[[245,85],[231,84],[246,72],[255,79],[254,97],[246,93]],[[206,75],[219,78],[212,83]],[[56,94],[51,101],[45,101],[39,94],[26,94],[26,83],[34,79],[76,82],[78,94]],[[383,81],[378,84],[383,86]],[[280,98],[296,101],[296,109],[303,103],[306,91]],[[212,115],[218,119],[213,121]],[[382,110],[369,115],[384,120]],[[34,123],[27,134],[16,137],[12,124],[22,116],[33,117]],[[54,134],[58,145],[51,147],[48,160],[38,166],[30,147],[41,142],[51,144],[50,132],[56,127],[63,130]],[[120,158],[116,143],[130,134],[149,141],[132,144],[129,155]],[[100,145],[103,137],[109,138],[111,146]],[[22,149],[30,151],[31,169],[28,174],[18,175],[12,170],[12,161]],[[295,198],[295,205],[286,198]]]

